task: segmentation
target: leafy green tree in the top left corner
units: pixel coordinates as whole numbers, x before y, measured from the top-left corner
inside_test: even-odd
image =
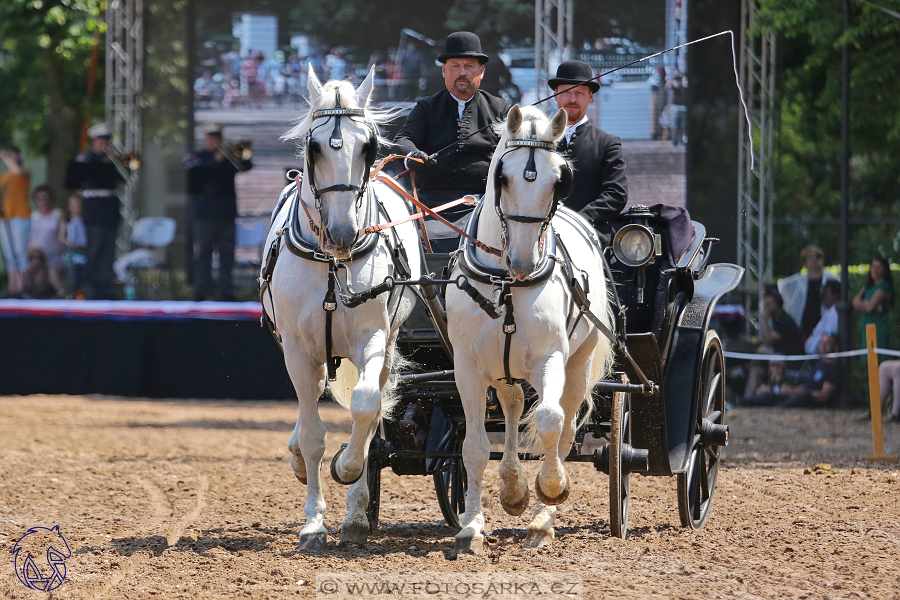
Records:
[[[86,90],[104,8],[102,0],[0,3],[0,137],[46,153],[49,183],[58,190],[78,151],[83,115],[103,115],[102,86],[90,103]]]

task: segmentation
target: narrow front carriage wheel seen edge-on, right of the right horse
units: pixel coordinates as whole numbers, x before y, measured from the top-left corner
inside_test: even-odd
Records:
[[[625,454],[631,449],[631,394],[616,392],[612,401],[609,436],[609,528],[612,535],[628,535],[628,503],[631,500],[631,472]]]

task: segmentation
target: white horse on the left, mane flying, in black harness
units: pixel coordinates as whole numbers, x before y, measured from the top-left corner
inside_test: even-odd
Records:
[[[390,413],[396,402],[387,389],[391,366],[398,359],[395,341],[415,303],[415,296],[405,287],[352,309],[333,297],[330,302],[323,302],[329,273],[336,274],[337,292],[345,294],[367,290],[387,276],[404,278],[392,260],[392,250],[400,245],[406,250],[409,274],[418,278],[422,270],[419,238],[412,223],[382,234],[360,233],[368,225],[410,215],[405,201],[395,192],[384,184],[368,182],[379,140],[378,126],[392,118],[390,113],[368,106],[373,73],[370,71],[354,90],[346,81],[322,85],[310,68],[310,110],[283,136],[304,140],[302,205],[295,205],[296,184],[287,186],[282,192],[285,202],[274,215],[266,241],[271,247],[277,240],[280,249],[262,301],[281,336],[285,365],[300,403],[288,448],[294,474],[307,484],[307,521],[300,532],[300,548],[307,550],[326,547],[326,506],[320,478],[326,435],[317,410],[329,360],[323,308],[333,311],[331,355],[346,357],[355,367],[353,370],[344,361],[337,381],[331,384],[332,395],[349,406],[353,419],[350,441],[332,463],[333,475],[342,483],[351,484],[341,543],[363,543],[369,532],[365,512],[369,501],[369,443],[380,419]],[[299,221],[299,232],[295,234],[286,229],[291,220]],[[301,252],[302,256],[298,256],[287,251],[285,245],[290,241],[295,247],[305,248],[306,254]],[[337,266],[332,267],[332,263]],[[263,280],[265,274],[264,267]]]

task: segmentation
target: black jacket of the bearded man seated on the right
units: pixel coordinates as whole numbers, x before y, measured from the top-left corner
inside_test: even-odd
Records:
[[[563,204],[595,227],[622,212],[628,201],[622,140],[588,121],[575,130],[569,144],[562,138],[558,147],[575,168],[575,185]]]

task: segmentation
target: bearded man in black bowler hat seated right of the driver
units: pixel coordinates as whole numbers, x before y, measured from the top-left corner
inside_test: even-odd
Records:
[[[569,117],[565,137],[558,147],[572,161],[575,184],[563,204],[602,230],[607,221],[625,208],[628,184],[622,141],[588,121],[587,107],[600,89],[593,77],[590,65],[569,60],[559,65],[556,77],[549,84],[554,92],[562,92],[556,97],[556,104]]]

